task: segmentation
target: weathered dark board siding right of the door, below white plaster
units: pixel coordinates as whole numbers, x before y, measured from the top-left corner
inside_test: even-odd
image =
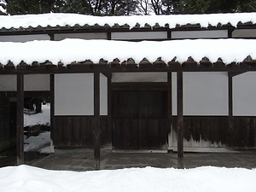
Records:
[[[230,144],[229,117],[184,116],[183,137],[197,142],[222,143],[235,148],[256,147],[256,117],[233,117],[232,145]],[[177,116],[173,117],[177,132]]]

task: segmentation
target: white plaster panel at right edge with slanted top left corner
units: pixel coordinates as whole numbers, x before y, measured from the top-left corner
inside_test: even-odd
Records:
[[[247,72],[233,77],[233,114],[256,116],[256,73]]]

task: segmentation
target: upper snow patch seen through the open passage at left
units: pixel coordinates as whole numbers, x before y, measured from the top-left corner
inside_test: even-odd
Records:
[[[24,114],[24,126],[48,125],[50,123],[50,105],[42,106],[42,113]]]

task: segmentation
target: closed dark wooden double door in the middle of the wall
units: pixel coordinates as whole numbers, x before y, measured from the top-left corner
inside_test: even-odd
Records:
[[[160,149],[167,143],[166,90],[113,90],[113,148]]]

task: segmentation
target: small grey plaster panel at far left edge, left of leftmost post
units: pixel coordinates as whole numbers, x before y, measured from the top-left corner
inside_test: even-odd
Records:
[[[0,75],[0,91],[17,90],[16,75]]]

